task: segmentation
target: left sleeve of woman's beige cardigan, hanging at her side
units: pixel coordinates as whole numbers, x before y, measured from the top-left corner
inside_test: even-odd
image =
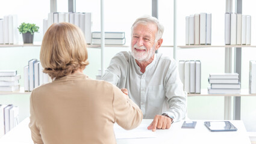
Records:
[[[34,107],[33,107],[33,92],[32,92],[30,95],[30,124],[28,125],[28,127],[30,127],[31,137],[34,143],[43,143],[40,130],[36,124],[37,124],[37,121],[36,121],[36,116],[35,116]]]

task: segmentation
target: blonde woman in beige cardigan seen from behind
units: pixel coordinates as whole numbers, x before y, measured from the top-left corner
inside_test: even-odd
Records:
[[[116,143],[113,124],[137,127],[142,112],[114,85],[83,74],[87,61],[83,32],[70,23],[55,23],[45,33],[40,52],[44,72],[53,82],[30,97],[34,143]]]

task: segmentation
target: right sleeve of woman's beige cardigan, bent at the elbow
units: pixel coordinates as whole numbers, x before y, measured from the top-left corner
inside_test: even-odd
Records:
[[[117,124],[125,130],[136,128],[142,122],[142,110],[116,86],[114,86],[113,110]]]

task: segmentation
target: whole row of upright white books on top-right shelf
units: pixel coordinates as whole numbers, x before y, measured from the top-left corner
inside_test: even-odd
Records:
[[[225,13],[225,44],[251,45],[251,16]]]

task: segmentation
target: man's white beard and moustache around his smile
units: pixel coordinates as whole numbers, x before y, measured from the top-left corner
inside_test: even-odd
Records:
[[[137,52],[135,48],[146,51]],[[139,47],[137,44],[134,44],[134,46],[131,48],[131,53],[137,61],[148,61],[153,55],[155,55],[155,45],[151,49],[147,50],[145,46]]]

